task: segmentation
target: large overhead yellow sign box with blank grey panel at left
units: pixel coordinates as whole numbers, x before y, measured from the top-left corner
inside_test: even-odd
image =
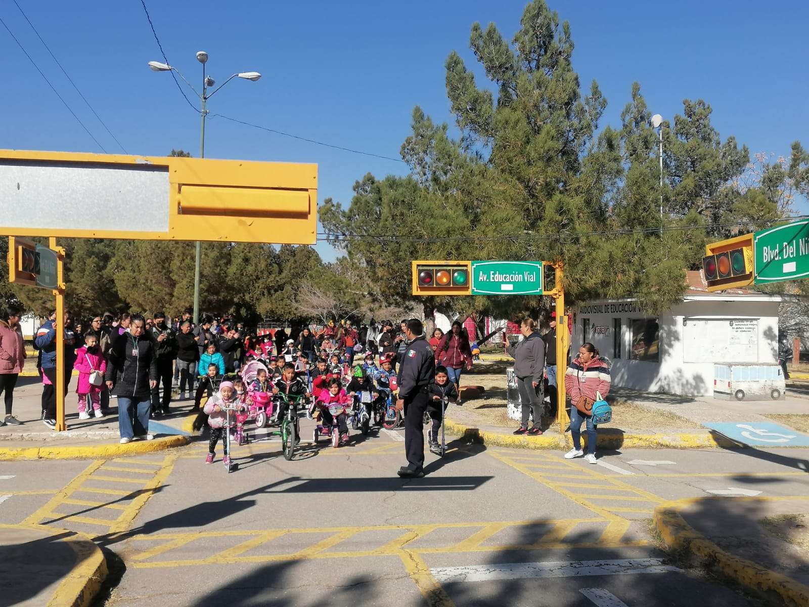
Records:
[[[317,165],[0,150],[0,234],[315,244]]]

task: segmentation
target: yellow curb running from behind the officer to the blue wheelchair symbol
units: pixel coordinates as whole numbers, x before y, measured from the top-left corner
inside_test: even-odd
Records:
[[[465,424],[446,420],[447,432],[471,439],[475,443],[483,443],[497,447],[513,447],[520,449],[566,449],[569,445],[567,436],[559,435],[510,435],[502,432],[481,430]],[[583,435],[583,433],[582,433]],[[587,435],[583,435],[587,444]],[[704,433],[682,432],[677,434],[621,434],[612,433],[608,429],[599,432],[599,448],[666,448],[666,449],[703,449],[711,447],[738,447],[739,444],[722,435]]]

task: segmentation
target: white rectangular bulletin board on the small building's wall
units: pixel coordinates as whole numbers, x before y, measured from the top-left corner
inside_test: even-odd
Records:
[[[757,363],[757,318],[688,318],[683,326],[684,363]]]

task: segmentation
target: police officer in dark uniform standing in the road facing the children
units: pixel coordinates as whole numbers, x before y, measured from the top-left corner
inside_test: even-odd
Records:
[[[421,320],[407,321],[404,329],[407,346],[396,378],[399,382],[396,409],[404,409],[404,450],[408,465],[399,469],[399,476],[404,478],[424,476],[424,412],[430,402],[428,389],[435,377],[435,354],[423,333]]]

